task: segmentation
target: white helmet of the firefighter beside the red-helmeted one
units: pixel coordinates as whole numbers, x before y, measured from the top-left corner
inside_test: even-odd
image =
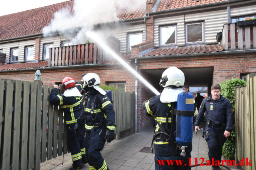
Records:
[[[99,91],[101,94],[105,95],[106,92],[99,87],[100,79],[98,74],[95,73],[85,73],[82,75],[82,80],[84,81],[83,87],[85,84],[91,81],[91,83],[88,84],[88,87],[93,87],[97,91]]]

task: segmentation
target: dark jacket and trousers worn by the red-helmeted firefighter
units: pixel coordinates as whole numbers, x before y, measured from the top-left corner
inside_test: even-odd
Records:
[[[81,91],[82,82],[77,82],[76,87]],[[83,103],[81,102],[82,97],[66,97],[63,94],[58,95],[58,92],[58,89],[52,89],[50,103],[59,105],[64,111],[68,131],[68,147],[71,152],[73,167],[79,167],[86,163],[85,135],[80,137],[77,133],[74,133],[74,125],[77,123],[77,118],[84,110]]]

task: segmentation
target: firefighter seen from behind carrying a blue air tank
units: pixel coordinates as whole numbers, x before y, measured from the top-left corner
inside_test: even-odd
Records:
[[[162,73],[162,78],[160,80],[160,86],[164,87],[162,93],[144,101],[142,104],[143,112],[147,116],[153,116],[155,119],[153,124],[154,137],[152,143],[154,142],[156,170],[190,170],[190,167],[188,166],[188,158],[191,158],[190,153],[192,151],[194,98],[190,92],[184,92],[182,90],[184,81],[184,73],[181,70],[176,67],[169,67]],[[188,123],[183,123],[184,119],[182,118],[183,120],[180,120],[179,127],[176,127],[176,117],[178,120],[181,119],[181,117],[185,117],[184,114],[187,114],[186,111],[183,111],[187,110],[186,107],[179,108],[179,111],[177,110],[178,96],[181,98],[183,98],[183,96],[189,97],[187,100],[189,105],[189,116],[187,119]],[[185,104],[181,104],[180,106],[182,105],[185,106]],[[182,127],[180,123],[187,125],[186,129],[188,133],[187,136],[185,134],[185,138],[184,129],[182,129],[184,127]],[[180,134],[175,136],[176,129],[179,129]],[[185,141],[183,141],[185,143],[182,143],[182,145],[186,144],[186,146],[178,144],[178,141],[176,140],[180,139],[185,139]],[[164,166],[160,166],[158,160],[181,160],[183,161],[183,164],[177,165],[174,163],[171,166],[166,163]]]

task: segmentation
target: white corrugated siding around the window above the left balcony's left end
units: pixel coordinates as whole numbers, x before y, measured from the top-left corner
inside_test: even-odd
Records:
[[[46,43],[53,43],[53,47],[60,47],[61,41],[65,41],[64,37],[47,37],[42,38],[40,42],[40,55],[39,60],[43,60],[43,47]]]

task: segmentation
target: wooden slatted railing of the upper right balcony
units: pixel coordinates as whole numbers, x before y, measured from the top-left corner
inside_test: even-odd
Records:
[[[256,49],[256,26],[224,24],[220,44],[226,51]]]

